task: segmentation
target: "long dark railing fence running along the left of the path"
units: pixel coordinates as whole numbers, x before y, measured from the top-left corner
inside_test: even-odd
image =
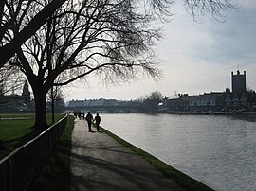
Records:
[[[67,116],[0,161],[0,190],[26,190],[66,126]]]

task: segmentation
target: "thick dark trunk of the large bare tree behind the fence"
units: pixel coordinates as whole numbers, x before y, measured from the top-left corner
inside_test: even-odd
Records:
[[[34,128],[38,130],[45,130],[47,128],[46,122],[46,94],[43,91],[37,90],[34,93],[35,98],[35,124]]]

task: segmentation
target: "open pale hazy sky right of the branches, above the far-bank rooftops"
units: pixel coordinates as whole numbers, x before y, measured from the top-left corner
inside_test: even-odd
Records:
[[[92,79],[67,87],[65,100],[136,99],[154,91],[163,96],[224,91],[230,89],[230,74],[236,73],[238,65],[240,72],[247,71],[247,88],[256,90],[256,1],[239,3],[240,9],[226,12],[224,23],[210,15],[194,22],[182,5],[175,3],[173,20],[163,25],[164,38],[155,47],[163,70],[158,82],[145,78],[105,87]]]

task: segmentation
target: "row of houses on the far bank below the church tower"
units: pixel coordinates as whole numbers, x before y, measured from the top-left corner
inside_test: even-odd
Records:
[[[211,92],[203,95],[188,94],[169,97],[159,105],[160,111],[229,111],[237,109],[255,110],[256,94],[231,92]]]

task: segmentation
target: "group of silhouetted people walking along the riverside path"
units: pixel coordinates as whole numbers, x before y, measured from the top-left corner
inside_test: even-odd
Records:
[[[99,113],[96,113],[96,116],[93,118],[93,115],[88,112],[85,116],[84,113],[82,112],[74,112],[75,117],[79,118],[79,119],[85,119],[87,121],[88,124],[88,129],[89,132],[92,131],[92,122],[95,122],[96,125],[96,130],[99,132],[100,131],[100,123],[101,123],[101,116],[99,115]]]

